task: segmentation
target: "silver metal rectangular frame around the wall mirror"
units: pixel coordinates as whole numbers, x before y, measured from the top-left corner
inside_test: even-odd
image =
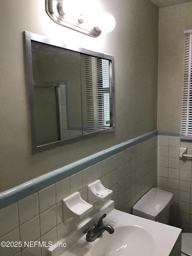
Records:
[[[30,107],[30,119],[31,119],[31,139],[32,139],[32,154],[42,152],[48,149],[52,149],[58,146],[64,146],[70,143],[81,141],[84,139],[92,138],[101,134],[109,133],[115,131],[115,111],[114,111],[114,57],[105,53],[98,53],[84,48],[70,47],[68,44],[56,41],[54,39],[46,38],[42,35],[37,35],[31,32],[24,32],[25,44],[26,44],[26,64],[27,64],[27,80],[29,87],[29,107]],[[32,51],[31,51],[31,41],[37,41],[44,44],[53,45],[56,47],[61,47],[67,50],[76,51],[83,53],[85,55],[99,57],[102,59],[107,59],[110,62],[110,115],[112,116],[112,127],[106,128],[101,131],[95,131],[77,137],[69,138],[66,140],[58,140],[56,142],[44,144],[41,146],[37,145],[36,139],[36,125],[35,125],[35,106],[34,106],[34,88],[33,88],[33,72],[32,72]]]

